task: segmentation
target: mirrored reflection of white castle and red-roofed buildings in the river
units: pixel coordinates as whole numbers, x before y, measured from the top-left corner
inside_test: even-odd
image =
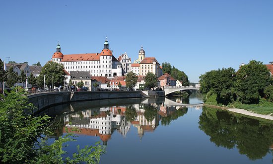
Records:
[[[72,127],[78,127],[80,132],[75,132],[76,134],[98,136],[107,145],[115,131],[126,138],[130,128],[134,127],[141,140],[145,132],[156,129],[160,120],[161,125],[166,126],[187,111],[186,104],[160,97],[74,102],[55,106],[44,112],[60,115],[56,119],[56,138],[67,130],[70,132]]]

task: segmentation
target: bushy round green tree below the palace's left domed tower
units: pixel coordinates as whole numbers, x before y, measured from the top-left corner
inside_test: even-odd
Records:
[[[41,74],[37,79],[37,83],[39,86],[44,85],[44,75],[45,75],[45,83],[47,86],[60,86],[64,85],[65,81],[65,72],[64,66],[62,64],[58,64],[56,62],[48,62],[41,70]]]

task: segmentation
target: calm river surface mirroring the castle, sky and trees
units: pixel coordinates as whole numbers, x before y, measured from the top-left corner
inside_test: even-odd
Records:
[[[100,141],[101,164],[273,163],[273,122],[179,103],[202,103],[202,96],[76,102],[45,112],[58,114],[56,138],[64,127],[81,129],[68,154]]]

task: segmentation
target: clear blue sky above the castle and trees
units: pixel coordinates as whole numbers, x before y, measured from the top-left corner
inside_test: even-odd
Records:
[[[29,65],[63,54],[127,52],[169,62],[190,82],[210,70],[273,61],[273,0],[1,0],[0,58]]]

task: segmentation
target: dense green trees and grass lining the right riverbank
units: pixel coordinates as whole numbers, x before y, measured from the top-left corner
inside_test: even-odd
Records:
[[[272,82],[267,67],[252,60],[237,72],[233,68],[206,72],[200,76],[200,90],[206,104],[273,114]]]

